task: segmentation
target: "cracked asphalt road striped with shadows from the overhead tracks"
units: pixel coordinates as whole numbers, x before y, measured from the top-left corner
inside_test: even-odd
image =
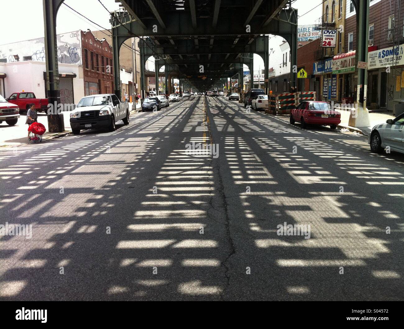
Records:
[[[202,96],[0,161],[1,300],[403,300],[404,157],[364,137]]]

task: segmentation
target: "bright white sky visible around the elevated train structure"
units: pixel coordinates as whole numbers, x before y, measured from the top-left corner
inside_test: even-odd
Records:
[[[102,4],[109,10],[119,9],[119,5],[114,0],[101,0]],[[298,9],[299,25],[315,24],[321,16],[321,0],[297,0],[293,7]],[[74,10],[82,13],[91,21],[105,27],[111,28],[109,15],[98,0],[65,0],[65,4]],[[316,7],[317,6],[317,7]],[[4,15],[5,12],[15,12],[18,8],[18,16],[22,18],[19,23],[15,23],[15,15]],[[311,10],[315,8],[314,10]],[[0,44],[35,39],[44,36],[43,4],[42,0],[1,0],[2,19],[0,20],[0,31],[10,31],[10,33],[0,34]],[[306,12],[311,10],[307,15]],[[93,23],[87,21],[67,6],[63,5],[57,15],[57,33],[90,29],[92,31],[100,29]],[[254,56],[254,66],[263,66],[260,56]]]

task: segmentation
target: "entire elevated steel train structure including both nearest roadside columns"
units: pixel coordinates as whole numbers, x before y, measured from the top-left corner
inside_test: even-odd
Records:
[[[48,98],[60,102],[57,62],[56,17],[64,0],[43,0]],[[253,54],[264,61],[268,92],[268,34],[282,36],[290,46],[290,92],[296,90],[297,10],[291,0],[116,0],[122,10],[109,13],[114,52],[114,92],[121,97],[119,50],[125,40],[140,37],[141,90],[145,95],[145,61],[156,58],[156,75],[165,67],[168,76],[177,72],[181,90],[204,91],[224,85],[228,77],[243,78],[243,65],[254,72]],[[357,20],[357,60],[367,58],[369,0],[352,0]],[[102,1],[101,1],[102,3]],[[107,9],[105,8],[107,11]],[[202,66],[202,67],[201,67]],[[203,70],[201,70],[203,68]],[[202,72],[203,71],[203,72]],[[158,78],[158,77],[157,77]],[[250,79],[250,88],[254,79]],[[366,69],[358,74],[358,101],[363,103]],[[241,92],[243,83],[239,83]],[[48,115],[49,131],[63,131],[63,116]]]

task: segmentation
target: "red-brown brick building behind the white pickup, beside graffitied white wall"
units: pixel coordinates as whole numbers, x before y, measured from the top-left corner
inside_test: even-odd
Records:
[[[114,65],[112,46],[107,40],[97,39],[91,31],[80,31],[84,94],[109,94],[114,92]]]

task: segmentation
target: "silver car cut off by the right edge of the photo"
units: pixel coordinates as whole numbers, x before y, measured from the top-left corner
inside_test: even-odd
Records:
[[[404,153],[404,113],[386,123],[375,125],[368,138],[372,152],[381,153],[387,146],[391,151]]]

